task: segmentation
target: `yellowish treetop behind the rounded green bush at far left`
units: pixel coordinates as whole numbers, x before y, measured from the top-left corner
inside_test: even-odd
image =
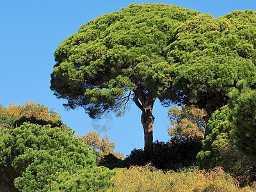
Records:
[[[44,105],[35,104],[35,102],[32,102],[31,100],[26,102],[24,106],[10,104],[4,108],[4,106],[0,104],[0,115],[26,116],[28,118],[34,116],[37,119],[45,121],[60,121],[60,115],[58,115],[58,113],[54,112],[52,109],[46,108]]]

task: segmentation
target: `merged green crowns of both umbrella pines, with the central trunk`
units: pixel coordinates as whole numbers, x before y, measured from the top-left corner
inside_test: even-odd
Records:
[[[152,149],[155,100],[195,104],[207,123],[240,79],[256,82],[256,12],[215,19],[167,4],[131,4],[81,26],[55,51],[51,90],[93,118],[141,109]],[[209,134],[206,127],[205,136]]]

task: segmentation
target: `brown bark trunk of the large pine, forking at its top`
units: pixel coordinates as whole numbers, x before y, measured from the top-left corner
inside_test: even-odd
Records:
[[[147,97],[145,97],[147,96]],[[153,124],[155,117],[152,115],[154,102],[156,97],[135,94],[134,102],[141,109],[141,124],[144,129],[144,150],[148,154],[153,152]],[[140,100],[140,101],[139,101]]]

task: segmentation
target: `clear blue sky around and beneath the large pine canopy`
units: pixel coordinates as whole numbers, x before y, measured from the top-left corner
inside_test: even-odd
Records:
[[[65,124],[84,135],[93,130],[92,120],[83,109],[65,111],[65,100],[58,100],[50,87],[54,65],[54,50],[79,27],[100,15],[121,10],[131,3],[165,3],[209,13],[218,18],[234,10],[256,11],[256,1],[108,1],[108,0],[44,0],[0,1],[0,103],[24,104],[28,100],[54,109]],[[154,106],[154,140],[168,141],[168,108],[159,102]],[[140,110],[132,105],[131,111],[120,118],[113,116],[113,125],[107,132],[116,150],[125,155],[134,148],[143,148],[143,128]],[[99,124],[105,124],[101,120]]]

